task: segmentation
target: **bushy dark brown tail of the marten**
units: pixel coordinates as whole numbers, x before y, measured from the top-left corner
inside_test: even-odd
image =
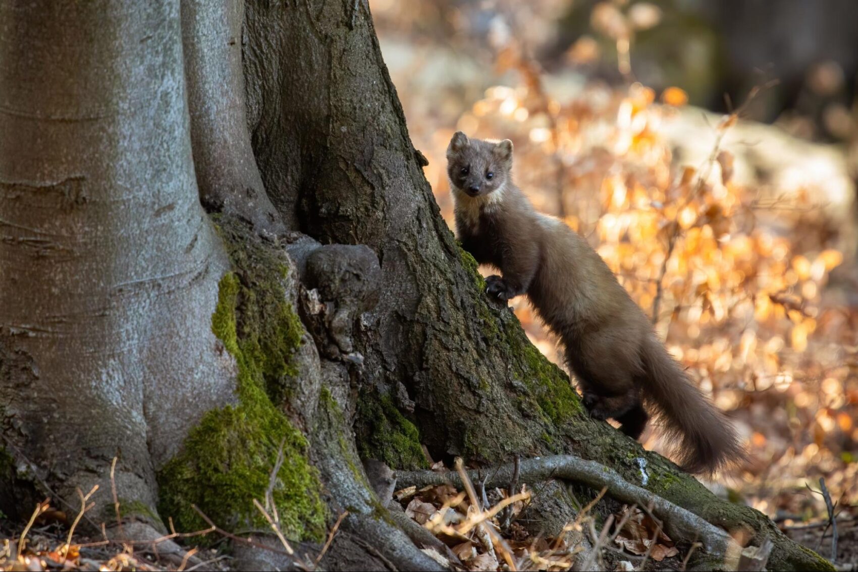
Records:
[[[644,399],[683,469],[711,474],[745,457],[733,425],[692,385],[655,336],[648,336],[643,359],[648,378]]]

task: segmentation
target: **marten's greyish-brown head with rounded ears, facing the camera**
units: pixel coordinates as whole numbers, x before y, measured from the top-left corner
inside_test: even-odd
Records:
[[[512,168],[512,141],[468,139],[456,131],[447,148],[447,174],[454,191],[486,196],[503,189]]]

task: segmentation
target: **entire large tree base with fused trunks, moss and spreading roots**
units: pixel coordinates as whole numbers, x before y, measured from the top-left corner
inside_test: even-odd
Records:
[[[770,538],[772,566],[826,569],[587,418],[488,301],[364,0],[248,0],[243,34],[239,2],[150,4],[0,4],[0,509],[107,488],[118,455],[151,521],[261,531],[271,491],[295,541],[348,510],[329,569],[437,569],[360,457],[575,453],[636,485],[644,459],[649,491]]]

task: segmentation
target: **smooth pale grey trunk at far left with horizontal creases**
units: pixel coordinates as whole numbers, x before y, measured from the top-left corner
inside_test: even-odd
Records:
[[[0,3],[0,449],[73,507],[233,400],[184,102],[178,3]]]

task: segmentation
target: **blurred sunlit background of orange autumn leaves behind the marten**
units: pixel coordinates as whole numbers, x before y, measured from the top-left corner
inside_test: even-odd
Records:
[[[858,3],[370,6],[450,225],[450,135],[510,138],[536,207],[589,239],[740,427],[751,459],[711,486],[789,527],[825,515],[806,486],[825,477],[855,511]]]

